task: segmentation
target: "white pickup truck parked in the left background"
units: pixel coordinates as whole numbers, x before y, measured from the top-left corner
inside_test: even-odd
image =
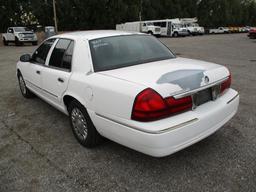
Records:
[[[15,43],[15,45],[32,43],[32,45],[37,45],[36,34],[27,27],[9,27],[7,33],[2,34],[2,38],[5,46],[9,43]]]

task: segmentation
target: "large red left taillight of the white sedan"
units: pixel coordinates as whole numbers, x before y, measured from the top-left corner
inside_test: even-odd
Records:
[[[135,98],[131,118],[136,121],[154,121],[192,109],[191,97],[163,99],[153,89],[145,89]]]

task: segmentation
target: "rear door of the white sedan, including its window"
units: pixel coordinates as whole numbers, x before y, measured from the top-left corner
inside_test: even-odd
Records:
[[[43,72],[43,90],[45,96],[55,104],[61,103],[61,98],[68,86],[71,75],[71,63],[74,41],[58,39]]]

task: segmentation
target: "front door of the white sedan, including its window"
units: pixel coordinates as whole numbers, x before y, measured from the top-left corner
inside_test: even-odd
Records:
[[[38,93],[42,91],[43,69],[49,50],[55,40],[56,39],[49,39],[42,43],[33,53],[31,61],[24,66],[24,70],[22,71],[27,86]]]

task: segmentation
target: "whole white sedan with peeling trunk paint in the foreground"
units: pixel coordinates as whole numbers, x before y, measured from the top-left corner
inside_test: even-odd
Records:
[[[85,147],[103,136],[155,157],[211,135],[239,104],[226,67],[176,57],[140,33],[51,37],[21,56],[17,77],[24,97],[38,95],[69,116]]]

